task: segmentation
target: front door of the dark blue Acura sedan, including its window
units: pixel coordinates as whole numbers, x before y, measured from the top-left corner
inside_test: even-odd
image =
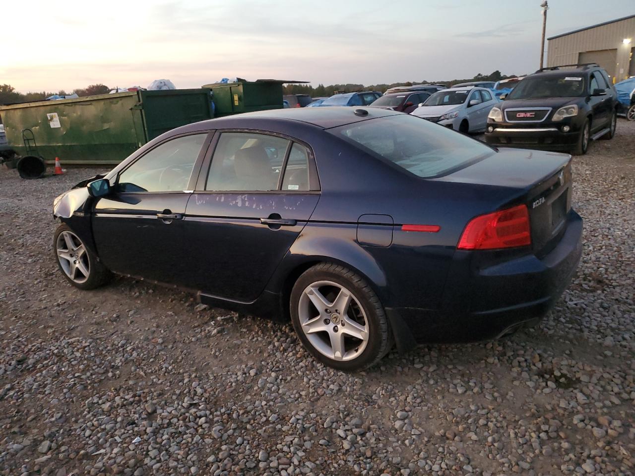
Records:
[[[180,136],[123,169],[114,191],[95,204],[93,235],[104,265],[121,274],[182,284],[183,218],[208,133]]]

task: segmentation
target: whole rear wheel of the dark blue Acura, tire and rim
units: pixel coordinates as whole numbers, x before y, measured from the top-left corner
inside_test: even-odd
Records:
[[[343,266],[320,263],[300,275],[290,312],[304,347],[327,366],[358,371],[391,350],[392,333],[377,294]]]

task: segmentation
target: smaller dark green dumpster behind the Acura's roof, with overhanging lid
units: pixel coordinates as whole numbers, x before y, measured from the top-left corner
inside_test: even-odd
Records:
[[[285,81],[282,79],[258,79],[245,81],[236,78],[236,83],[205,84],[213,93],[216,117],[267,109],[282,109],[285,83],[306,83],[306,81]]]

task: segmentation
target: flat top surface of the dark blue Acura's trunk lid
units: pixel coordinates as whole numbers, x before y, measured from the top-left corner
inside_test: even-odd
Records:
[[[571,156],[542,150],[499,149],[485,159],[434,180],[526,189],[564,167]]]

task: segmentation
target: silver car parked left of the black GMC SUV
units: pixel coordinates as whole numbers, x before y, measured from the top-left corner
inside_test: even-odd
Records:
[[[487,116],[500,100],[490,89],[451,88],[438,91],[410,114],[462,133],[485,131]]]

